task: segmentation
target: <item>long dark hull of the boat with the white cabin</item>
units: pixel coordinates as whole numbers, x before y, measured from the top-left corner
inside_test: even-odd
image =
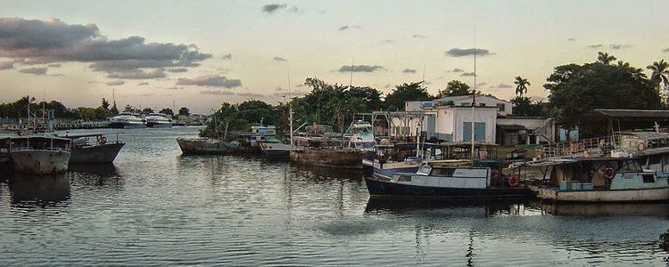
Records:
[[[386,182],[383,178],[365,177],[370,198],[527,198],[525,188],[446,188]]]

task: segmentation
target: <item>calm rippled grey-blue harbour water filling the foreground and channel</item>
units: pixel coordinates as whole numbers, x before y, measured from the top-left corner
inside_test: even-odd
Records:
[[[113,166],[2,179],[0,265],[667,263],[666,204],[369,201],[358,173],[182,157],[195,128],[124,131]]]

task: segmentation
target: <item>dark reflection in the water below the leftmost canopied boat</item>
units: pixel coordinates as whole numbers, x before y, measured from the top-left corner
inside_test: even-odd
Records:
[[[13,174],[8,184],[14,206],[54,206],[70,199],[68,174]]]

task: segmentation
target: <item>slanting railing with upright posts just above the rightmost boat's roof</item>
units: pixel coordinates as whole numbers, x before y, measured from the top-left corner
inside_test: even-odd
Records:
[[[582,139],[578,142],[558,142],[537,147],[539,158],[602,157],[620,150],[620,135]]]

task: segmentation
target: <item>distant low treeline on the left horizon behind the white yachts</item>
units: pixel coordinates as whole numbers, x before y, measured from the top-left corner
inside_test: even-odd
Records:
[[[42,117],[42,110],[53,110],[54,117],[57,118],[81,120],[104,120],[107,117],[119,114],[119,109],[117,109],[116,104],[114,103],[111,105],[110,102],[104,98],[102,99],[100,106],[96,108],[78,107],[70,109],[63,105],[60,101],[36,101],[35,98],[24,96],[17,101],[0,104],[0,117],[29,117],[27,108],[28,105],[30,106],[30,117]],[[153,112],[153,109],[134,109],[132,106],[127,105],[123,111],[148,114]],[[174,111],[169,108],[161,109],[159,112],[172,116],[188,116],[189,114],[189,110],[186,107],[179,109],[178,114],[174,114]]]

